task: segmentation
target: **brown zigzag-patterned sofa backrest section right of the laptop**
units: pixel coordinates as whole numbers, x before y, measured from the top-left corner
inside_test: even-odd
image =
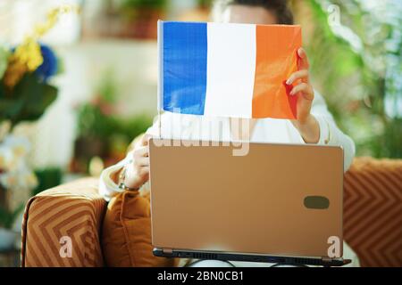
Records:
[[[402,266],[402,160],[355,159],[343,216],[344,238],[362,266]]]

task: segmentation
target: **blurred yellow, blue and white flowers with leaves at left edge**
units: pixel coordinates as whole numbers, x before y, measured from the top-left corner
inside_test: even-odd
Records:
[[[57,73],[58,60],[53,50],[38,40],[61,13],[72,10],[71,6],[55,8],[20,45],[0,46],[0,250],[13,247],[12,227],[24,205],[22,201],[15,205],[10,198],[38,185],[26,159],[29,141],[13,134],[13,128],[22,121],[38,120],[57,97],[49,78]]]

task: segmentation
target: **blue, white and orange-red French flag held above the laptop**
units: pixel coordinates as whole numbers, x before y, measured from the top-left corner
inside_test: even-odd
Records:
[[[158,108],[231,118],[296,118],[285,84],[300,26],[158,22]]]

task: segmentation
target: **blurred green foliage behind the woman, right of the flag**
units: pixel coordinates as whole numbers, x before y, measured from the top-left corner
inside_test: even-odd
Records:
[[[291,1],[314,87],[356,155],[402,158],[402,2]]]

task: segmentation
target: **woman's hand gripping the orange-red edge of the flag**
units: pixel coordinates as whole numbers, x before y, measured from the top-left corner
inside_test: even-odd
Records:
[[[295,84],[290,95],[297,96],[297,118],[292,120],[292,123],[305,142],[316,143],[320,140],[320,126],[310,113],[314,100],[314,88],[310,83],[309,63],[303,48],[299,48],[297,54],[298,70],[286,81],[287,85]]]

